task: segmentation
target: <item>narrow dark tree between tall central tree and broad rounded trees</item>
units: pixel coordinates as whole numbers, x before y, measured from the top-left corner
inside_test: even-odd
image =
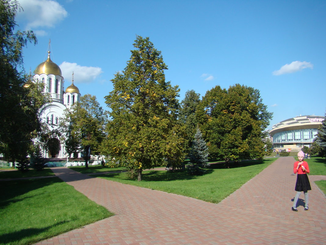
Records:
[[[198,121],[196,119],[196,107],[200,103],[200,94],[195,90],[188,90],[185,98],[181,101],[181,109],[179,111],[179,120],[185,125],[187,153],[191,148],[191,142],[196,134]]]

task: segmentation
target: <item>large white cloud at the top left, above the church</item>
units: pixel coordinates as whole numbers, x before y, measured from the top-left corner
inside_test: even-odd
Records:
[[[53,0],[19,0],[24,11],[18,12],[27,21],[25,29],[54,27],[67,17],[68,12]]]

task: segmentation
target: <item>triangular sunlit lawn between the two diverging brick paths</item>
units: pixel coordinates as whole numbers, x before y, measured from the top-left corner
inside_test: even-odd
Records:
[[[275,160],[243,161],[238,165],[230,164],[230,169],[225,169],[223,164],[215,164],[214,169],[208,169],[202,176],[150,170],[143,172],[141,182],[128,179],[125,173],[108,173],[97,177],[219,203]]]

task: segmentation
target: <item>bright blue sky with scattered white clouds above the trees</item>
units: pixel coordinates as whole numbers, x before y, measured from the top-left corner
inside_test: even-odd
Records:
[[[126,67],[136,35],[162,52],[166,79],[204,96],[216,85],[258,89],[272,125],[299,115],[325,114],[326,1],[19,0],[19,28],[33,30],[25,70],[51,59],[65,88],[104,96]]]

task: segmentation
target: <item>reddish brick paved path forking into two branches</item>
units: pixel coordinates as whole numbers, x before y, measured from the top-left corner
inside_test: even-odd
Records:
[[[299,211],[293,212],[293,162],[280,157],[219,204],[53,168],[116,215],[37,244],[324,245],[326,198],[313,181],[326,176],[309,176],[309,210],[299,199]]]

